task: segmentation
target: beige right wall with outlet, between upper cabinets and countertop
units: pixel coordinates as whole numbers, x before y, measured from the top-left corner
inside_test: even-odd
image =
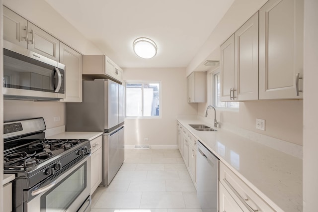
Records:
[[[211,95],[211,75],[207,72],[208,95]],[[209,96],[210,97],[210,96]],[[198,115],[204,116],[208,105],[199,103]],[[208,117],[214,119],[209,111]],[[256,118],[265,119],[265,131],[255,128]],[[237,127],[303,145],[303,101],[302,100],[271,100],[239,103],[239,110],[217,108],[217,120],[230,123]],[[212,121],[212,120],[211,120]]]

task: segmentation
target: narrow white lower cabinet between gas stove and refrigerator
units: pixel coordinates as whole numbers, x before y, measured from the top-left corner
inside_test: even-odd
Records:
[[[102,136],[90,141],[91,159],[90,159],[90,194],[93,194],[101,183],[102,172]]]

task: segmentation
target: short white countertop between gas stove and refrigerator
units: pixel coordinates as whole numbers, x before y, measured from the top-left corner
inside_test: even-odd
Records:
[[[54,134],[51,136],[46,137],[47,139],[88,139],[93,140],[98,136],[102,135],[102,132],[61,132],[58,134]]]

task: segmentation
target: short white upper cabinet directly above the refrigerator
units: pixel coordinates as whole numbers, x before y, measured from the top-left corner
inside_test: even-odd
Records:
[[[83,75],[123,82],[123,70],[106,55],[83,55]]]

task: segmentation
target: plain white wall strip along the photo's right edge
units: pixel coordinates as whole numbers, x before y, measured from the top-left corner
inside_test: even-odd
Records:
[[[317,211],[318,197],[318,1],[305,0],[304,33],[304,161],[303,206],[304,212]]]

